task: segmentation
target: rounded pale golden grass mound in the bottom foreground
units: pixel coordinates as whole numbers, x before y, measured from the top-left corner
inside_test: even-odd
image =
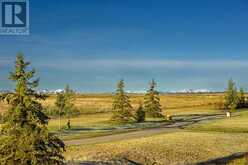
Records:
[[[127,158],[142,164],[188,164],[247,151],[248,134],[178,132],[146,138],[71,146],[67,160]]]

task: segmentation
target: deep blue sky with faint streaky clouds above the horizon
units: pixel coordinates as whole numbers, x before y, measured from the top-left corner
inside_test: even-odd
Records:
[[[247,0],[31,1],[29,36],[0,36],[0,89],[18,52],[40,89],[110,92],[248,88]]]

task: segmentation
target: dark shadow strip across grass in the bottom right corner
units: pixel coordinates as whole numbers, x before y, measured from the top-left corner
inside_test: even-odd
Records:
[[[238,162],[242,159],[242,163]],[[238,152],[226,157],[198,162],[195,165],[248,165],[248,152]]]

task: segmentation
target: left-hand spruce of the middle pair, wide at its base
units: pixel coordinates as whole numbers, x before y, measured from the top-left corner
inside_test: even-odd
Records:
[[[124,80],[120,80],[114,96],[111,120],[117,122],[131,122],[135,120],[133,108],[128,95],[124,91]]]

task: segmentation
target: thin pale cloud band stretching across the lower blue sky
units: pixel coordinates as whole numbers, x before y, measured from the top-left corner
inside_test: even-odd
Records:
[[[248,68],[248,60],[171,60],[171,59],[86,59],[58,60],[39,63],[55,69],[241,69]]]

